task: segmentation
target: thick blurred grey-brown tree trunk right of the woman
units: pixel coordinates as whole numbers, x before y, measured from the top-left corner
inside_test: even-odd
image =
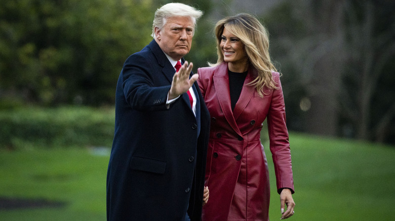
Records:
[[[322,54],[313,67],[309,93],[311,108],[307,119],[310,133],[335,136],[338,129],[338,94],[343,68],[343,1],[323,1],[315,4],[319,45],[315,50]],[[317,5],[318,4],[318,5]]]

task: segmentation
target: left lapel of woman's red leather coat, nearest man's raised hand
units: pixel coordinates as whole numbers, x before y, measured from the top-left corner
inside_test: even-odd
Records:
[[[238,125],[236,124],[236,121],[234,120],[232,113],[229,91],[228,63],[224,62],[221,65],[218,65],[214,73],[213,81],[215,91],[217,92],[219,105],[221,106],[225,119],[236,133],[238,133],[240,136],[243,136]]]

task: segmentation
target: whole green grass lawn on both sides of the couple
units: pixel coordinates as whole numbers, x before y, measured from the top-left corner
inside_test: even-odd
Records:
[[[296,202],[289,220],[393,220],[395,148],[290,134]],[[268,145],[270,219],[280,200]],[[0,197],[44,198],[64,207],[0,210],[1,220],[105,220],[109,153],[87,147],[0,149]]]

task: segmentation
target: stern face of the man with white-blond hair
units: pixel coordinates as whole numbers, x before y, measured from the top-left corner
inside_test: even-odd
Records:
[[[190,50],[193,29],[190,17],[167,18],[162,30],[155,27],[156,42],[165,53],[178,61]]]

